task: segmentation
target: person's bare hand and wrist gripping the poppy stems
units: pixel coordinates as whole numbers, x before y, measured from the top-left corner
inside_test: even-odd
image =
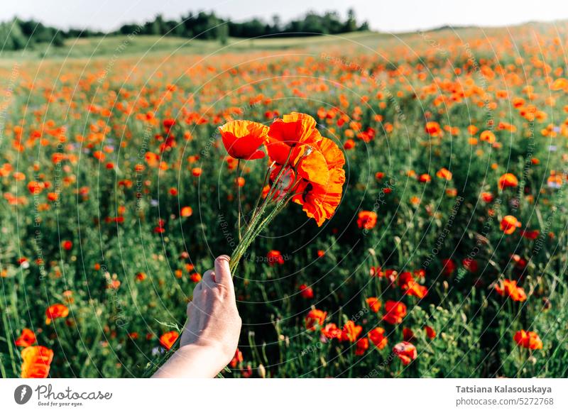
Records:
[[[221,255],[193,290],[180,349],[153,377],[215,377],[233,358],[240,333],[229,257]]]

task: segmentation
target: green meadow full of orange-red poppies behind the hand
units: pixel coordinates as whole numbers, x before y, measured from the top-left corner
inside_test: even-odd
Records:
[[[0,53],[2,377],[148,375],[221,254],[223,377],[567,377],[567,35]]]

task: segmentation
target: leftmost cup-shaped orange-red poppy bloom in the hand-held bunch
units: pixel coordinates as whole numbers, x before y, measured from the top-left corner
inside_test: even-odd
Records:
[[[230,121],[219,128],[226,151],[236,159],[259,159],[264,152],[258,149],[266,143],[268,127],[251,121]]]

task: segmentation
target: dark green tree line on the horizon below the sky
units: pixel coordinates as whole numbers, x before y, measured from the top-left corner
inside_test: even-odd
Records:
[[[89,38],[102,35],[165,35],[204,40],[220,40],[225,43],[229,37],[256,38],[261,36],[305,36],[350,33],[368,30],[368,23],[359,24],[355,11],[349,9],[343,19],[335,11],[316,13],[310,11],[295,20],[283,23],[279,16],[273,16],[270,22],[261,18],[234,22],[217,16],[214,11],[199,11],[181,16],[178,20],[168,20],[162,15],[142,24],[124,24],[116,31],[92,31],[87,28],[59,30],[45,26],[34,20],[13,18],[0,23],[0,50],[20,50],[33,47],[36,43],[51,43],[62,46],[67,38]]]

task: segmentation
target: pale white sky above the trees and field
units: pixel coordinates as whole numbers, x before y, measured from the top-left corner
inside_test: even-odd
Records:
[[[109,31],[124,23],[142,23],[158,13],[179,18],[188,11],[215,11],[234,21],[261,17],[283,22],[306,11],[338,11],[352,7],[359,21],[389,33],[439,26],[508,26],[528,21],[568,19],[566,0],[9,0],[2,1],[0,21],[14,16],[34,18],[58,28]]]

